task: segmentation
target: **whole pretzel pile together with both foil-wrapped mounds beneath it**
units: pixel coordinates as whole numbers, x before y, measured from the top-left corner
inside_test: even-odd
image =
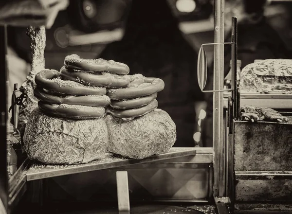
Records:
[[[73,164],[96,160],[106,151],[135,159],[167,152],[176,126],[157,109],[164,81],[128,73],[123,63],[76,54],[65,58],[60,71],[37,73],[39,108],[24,134],[29,157]]]

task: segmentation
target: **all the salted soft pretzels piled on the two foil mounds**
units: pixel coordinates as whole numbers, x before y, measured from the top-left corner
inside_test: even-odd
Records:
[[[158,107],[157,92],[164,81],[141,74],[128,75],[123,63],[82,59],[69,55],[60,72],[43,70],[36,75],[35,97],[39,108],[71,119],[101,117],[107,112],[118,118],[135,118]],[[111,102],[110,102],[111,100]]]

